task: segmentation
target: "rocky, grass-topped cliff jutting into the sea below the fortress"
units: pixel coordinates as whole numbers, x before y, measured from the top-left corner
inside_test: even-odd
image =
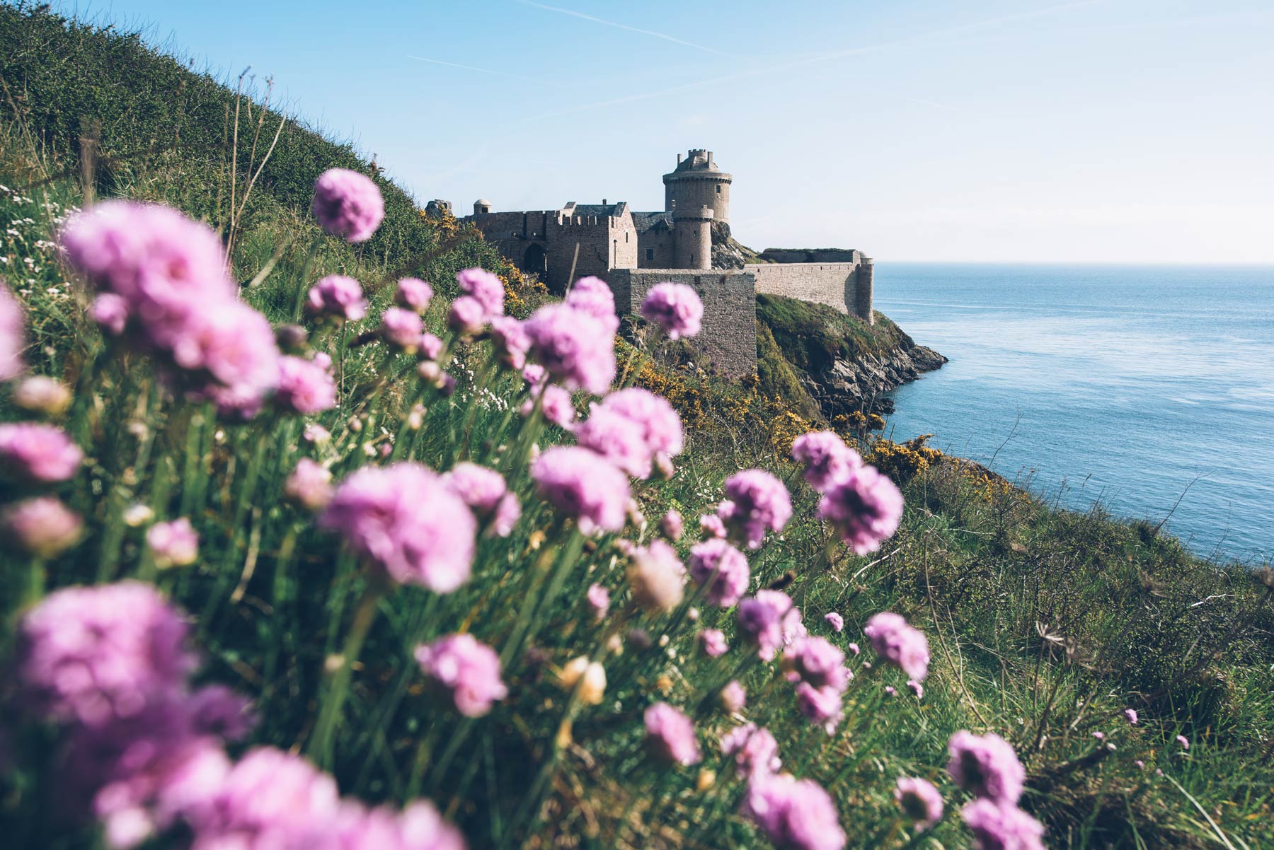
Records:
[[[758,350],[763,388],[791,394],[791,380],[782,378],[795,373],[804,394],[827,419],[854,411],[891,414],[893,400],[887,393],[947,363],[879,312],[869,326],[824,304],[758,295],[757,321],[768,331],[758,340],[771,337],[775,345]],[[792,402],[804,406],[801,400]]]

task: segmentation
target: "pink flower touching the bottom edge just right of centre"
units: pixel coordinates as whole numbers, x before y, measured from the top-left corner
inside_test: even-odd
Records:
[[[845,846],[836,803],[813,780],[781,774],[753,776],[741,811],[778,850]]]

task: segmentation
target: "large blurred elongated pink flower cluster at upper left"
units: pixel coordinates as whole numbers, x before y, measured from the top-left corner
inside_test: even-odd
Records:
[[[68,261],[97,288],[93,314],[108,333],[176,368],[197,398],[254,415],[279,382],[274,331],[238,300],[220,240],[176,210],[106,201],[61,234]]]

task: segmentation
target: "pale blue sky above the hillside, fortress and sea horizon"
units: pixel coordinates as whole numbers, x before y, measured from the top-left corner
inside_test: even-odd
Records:
[[[1270,0],[78,8],[273,76],[457,210],[661,209],[676,153],[708,148],[755,248],[1274,262]]]

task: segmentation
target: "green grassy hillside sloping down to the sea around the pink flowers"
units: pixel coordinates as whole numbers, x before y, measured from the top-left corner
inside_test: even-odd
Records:
[[[392,215],[382,233],[362,248],[322,237],[306,212],[313,177],[335,164],[367,173],[368,164],[296,125],[285,125],[287,150],[310,153],[275,164],[280,141],[232,240],[224,141],[232,92],[125,33],[10,6],[0,8],[0,24],[11,93],[0,104],[0,215],[9,223],[0,279],[25,312],[28,369],[73,389],[70,408],[50,421],[85,454],[64,482],[37,486],[3,470],[0,506],[55,495],[84,522],[79,540],[59,554],[24,556],[11,540],[0,552],[4,663],[15,651],[14,624],[46,594],[121,579],[153,584],[187,612],[201,658],[196,685],[222,685],[255,704],[256,727],[229,744],[229,757],[276,747],[321,766],[344,795],[392,807],[429,799],[471,847],[771,846],[739,813],[747,783],[720,751],[743,721],[773,733],[782,770],[827,790],[848,847],[973,846],[959,817],[970,793],[945,771],[948,739],[961,729],[994,732],[1013,746],[1026,769],[1020,804],[1047,827],[1050,847],[1274,842],[1274,574],[1200,560],[1144,523],[1099,509],[1057,510],[922,444],[862,439],[852,428],[842,428],[843,436],[902,490],[901,526],[860,556],[817,519],[818,494],[787,457],[817,414],[803,407],[795,369],[899,344],[903,335],[888,319],[868,330],[831,309],[766,299],[758,304],[763,373],[740,384],[693,364],[657,366],[618,344],[620,374],[680,411],[687,449],[669,480],[631,482],[634,515],[622,531],[586,537],[538,492],[527,470],[535,450],[573,438],[517,415],[524,382],[498,365],[488,341],[446,331],[446,293],[424,321],[451,345],[455,359],[440,368],[455,378],[454,393],[423,379],[410,354],[371,338],[349,345],[376,328],[400,268],[438,284],[469,265],[501,270],[506,304],[525,314],[543,295],[489,247],[455,223],[424,220],[383,181]],[[167,88],[154,85],[158,79]],[[172,98],[175,90],[186,99]],[[131,106],[120,108],[116,98]],[[203,136],[176,130],[192,113],[203,116]],[[82,115],[102,117],[102,157],[92,158],[102,168],[85,167]],[[153,146],[159,137],[172,144]],[[139,144],[155,153],[132,155]],[[242,139],[238,150],[242,162],[260,163]],[[282,171],[266,179],[274,168]],[[245,178],[242,167],[236,185]],[[204,218],[232,243],[241,281],[269,266],[245,291],[273,319],[290,321],[296,294],[322,274],[358,277],[371,295],[368,318],[307,321],[307,349],[339,364],[335,406],[218,419],[211,406],[157,382],[150,358],[107,349],[85,318],[83,281],[55,239],[75,207],[113,195]],[[9,386],[0,389],[0,419],[32,417]],[[575,394],[581,415],[589,401]],[[301,439],[312,425],[331,439]],[[524,515],[508,537],[476,538],[473,574],[459,588],[386,588],[368,559],[284,498],[301,459],[322,464],[338,484],[392,461],[437,471],[483,463],[505,473]],[[696,518],[713,510],[727,476],[750,467],[777,476],[794,510],[781,534],[748,552],[749,593],[782,588],[809,632],[845,651],[854,672],[832,734],[800,714],[780,665],[747,646],[735,608],[706,603],[693,583],[670,611],[636,602],[631,548],[655,538],[656,518],[670,508],[684,514],[688,531],[675,548],[687,559],[699,540]],[[197,531],[199,554],[161,570],[148,527],[177,518]],[[594,583],[612,596],[600,618],[585,596]],[[927,636],[922,697],[864,636],[866,620],[887,610]],[[843,632],[823,618],[833,611]],[[363,627],[366,639],[354,640]],[[721,658],[701,649],[699,632],[710,627],[731,646]],[[501,655],[508,693],[489,714],[462,714],[418,665],[418,644],[452,632]],[[564,683],[578,658],[605,671],[596,702],[586,679]],[[730,678],[747,688],[747,705],[719,710],[717,692]],[[18,847],[106,846],[102,813],[74,819],[66,812],[78,803],[73,791],[96,775],[68,776],[68,763],[83,766],[66,761],[74,742],[25,715],[14,691],[20,679],[0,683],[0,833]],[[643,742],[643,713],[656,701],[693,719],[701,761],[668,765]],[[1126,709],[1139,713],[1135,725]],[[947,816],[931,831],[902,817],[893,797],[899,776],[929,779],[941,793]],[[148,850],[183,846],[181,827],[158,830]]]

